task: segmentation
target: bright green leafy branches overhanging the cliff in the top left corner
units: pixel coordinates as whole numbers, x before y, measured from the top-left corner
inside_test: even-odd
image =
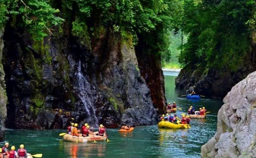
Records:
[[[19,17],[19,25],[25,27],[35,40],[42,40],[48,33],[52,34],[53,26],[63,19],[55,16],[59,12],[46,0],[0,0],[0,25],[8,17]]]

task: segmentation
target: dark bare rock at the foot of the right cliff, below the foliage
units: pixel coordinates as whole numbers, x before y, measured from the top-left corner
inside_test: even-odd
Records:
[[[181,69],[175,80],[175,85],[187,92],[195,90],[200,95],[224,98],[232,86],[244,79],[249,73],[256,71],[252,56],[249,55],[248,59],[244,60],[244,66],[237,72],[231,72],[225,68],[185,67]]]

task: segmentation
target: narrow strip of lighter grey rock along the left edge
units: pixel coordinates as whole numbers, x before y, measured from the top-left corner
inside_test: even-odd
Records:
[[[4,47],[4,28],[0,28],[0,61],[2,60],[2,50]],[[6,119],[6,92],[5,92],[5,72],[0,62],[0,141],[4,139],[5,136],[5,119]]]

